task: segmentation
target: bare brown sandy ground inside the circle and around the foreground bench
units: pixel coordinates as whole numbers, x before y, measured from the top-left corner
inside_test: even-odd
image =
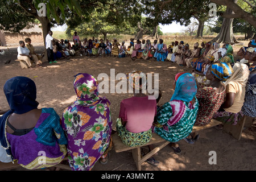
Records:
[[[73,76],[77,73],[89,73],[97,77],[100,73],[106,73],[110,76],[110,69],[115,69],[115,75],[118,73],[128,73],[134,69],[144,73],[159,73],[159,86],[163,91],[163,98],[160,104],[169,101],[174,90],[172,82],[177,72],[191,69],[180,67],[171,62],[157,62],[154,60],[137,59],[131,61],[130,58],[119,59],[117,57],[97,57],[88,58],[85,56],[75,56],[70,60],[62,59],[58,63],[49,65],[43,61],[42,68],[21,69],[16,61],[16,48],[0,47],[5,49],[6,54],[0,55],[0,110],[9,109],[3,85],[6,80],[14,76],[26,76],[35,81],[37,87],[37,101],[39,107],[53,107],[57,114],[62,115],[63,110],[73,101],[75,101],[75,91],[73,90]],[[39,51],[42,46],[36,47]],[[235,50],[235,52],[238,49]],[[9,64],[5,64],[11,60]],[[116,82],[117,83],[117,82]],[[115,120],[119,114],[119,103],[131,94],[101,94],[110,100],[113,128]],[[147,162],[142,164],[143,171],[210,171],[210,170],[255,170],[256,166],[256,131],[251,127],[251,118],[247,118],[241,140],[234,139],[230,134],[214,128],[200,131],[200,139],[195,144],[188,144],[184,140],[179,142],[181,154],[176,155],[170,146],[164,147],[155,156],[160,162],[158,167],[152,166]],[[147,150],[147,148],[144,148]],[[210,165],[209,152],[216,151],[217,164]],[[19,170],[24,170],[20,168]],[[105,165],[96,163],[92,171],[135,171],[137,170],[130,151],[115,153],[110,151],[109,162]]]

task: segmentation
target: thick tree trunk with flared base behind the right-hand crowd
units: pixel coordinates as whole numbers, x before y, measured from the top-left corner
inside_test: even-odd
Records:
[[[234,3],[237,3],[237,0],[233,0]],[[226,14],[233,14],[232,9],[229,7],[226,9]],[[212,40],[212,42],[217,43],[229,43],[229,44],[236,44],[236,38],[233,34],[233,18],[224,18],[221,25],[220,33],[216,38]]]

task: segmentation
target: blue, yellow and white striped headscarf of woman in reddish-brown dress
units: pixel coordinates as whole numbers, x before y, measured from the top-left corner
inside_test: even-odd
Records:
[[[233,73],[233,69],[229,63],[214,63],[210,67],[210,71],[220,81],[226,81]]]

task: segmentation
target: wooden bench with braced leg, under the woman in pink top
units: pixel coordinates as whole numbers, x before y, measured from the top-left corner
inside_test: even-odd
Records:
[[[214,126],[217,126],[217,125],[220,125],[220,124],[222,124],[222,122],[217,121],[216,119],[212,119],[210,121],[210,123],[206,126],[193,126],[192,133],[198,132],[200,130],[209,129],[210,127],[214,127]],[[224,126],[224,128],[225,128],[225,126]],[[241,137],[241,134],[240,134],[240,137]],[[167,146],[167,144],[170,143],[170,142],[168,142],[167,140],[164,140],[158,134],[155,134],[155,133],[152,133],[152,138],[151,138],[150,142],[148,142],[146,144],[143,144],[141,146],[137,146],[137,147],[126,146],[126,144],[124,144],[122,142],[121,138],[118,136],[117,133],[112,134],[112,139],[113,139],[113,145],[114,145],[114,151],[115,152],[118,153],[118,152],[124,152],[124,151],[131,150],[131,152],[133,154],[133,159],[134,159],[134,162],[137,166],[138,171],[141,171],[141,164],[143,162],[145,162],[147,159],[151,158],[152,155],[156,154],[156,152],[158,152],[159,150],[161,150],[163,147]],[[141,147],[148,146],[150,144],[158,144],[158,146],[156,146],[154,148],[154,150],[148,152],[148,154],[141,157]]]

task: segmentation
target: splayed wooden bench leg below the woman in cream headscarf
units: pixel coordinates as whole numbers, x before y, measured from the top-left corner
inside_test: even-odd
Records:
[[[245,125],[245,119],[246,117],[243,117],[241,121],[237,122],[237,125],[224,124],[223,130],[226,133],[231,133],[237,140],[240,140],[243,132],[243,126]]]

